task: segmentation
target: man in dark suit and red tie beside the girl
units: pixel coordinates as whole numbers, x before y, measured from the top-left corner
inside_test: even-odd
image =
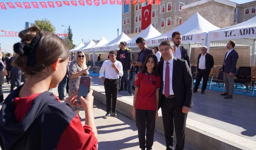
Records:
[[[158,62],[161,78],[159,107],[163,115],[166,149],[173,150],[174,126],[176,133],[176,150],[185,148],[185,127],[187,113],[192,107],[193,82],[188,62],[173,56],[173,43],[169,40],[160,44],[164,60]]]

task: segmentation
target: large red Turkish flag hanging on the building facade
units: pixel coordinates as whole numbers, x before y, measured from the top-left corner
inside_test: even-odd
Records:
[[[141,10],[141,29],[146,29],[151,24],[151,5],[147,5],[145,7],[142,7]]]

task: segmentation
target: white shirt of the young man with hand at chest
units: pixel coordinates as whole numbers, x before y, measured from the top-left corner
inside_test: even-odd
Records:
[[[106,60],[103,62],[100,71],[99,71],[99,78],[104,77],[105,72],[105,78],[108,79],[118,79],[119,76],[123,76],[123,66],[122,63],[118,60],[115,60],[114,64],[118,68],[119,74],[115,71],[115,69],[111,66],[113,62],[111,60]]]

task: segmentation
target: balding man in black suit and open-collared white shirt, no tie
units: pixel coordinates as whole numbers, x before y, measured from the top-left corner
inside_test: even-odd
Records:
[[[213,56],[207,53],[206,46],[203,46],[201,50],[202,50],[202,54],[199,54],[197,58],[196,83],[195,83],[193,92],[197,92],[200,81],[203,78],[201,94],[204,94],[211,68],[214,65],[214,60],[213,60]]]

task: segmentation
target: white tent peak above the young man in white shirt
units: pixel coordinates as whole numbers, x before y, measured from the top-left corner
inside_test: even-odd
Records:
[[[104,53],[104,52],[108,53],[110,50],[118,49],[120,42],[123,42],[123,41],[126,42],[130,39],[131,38],[129,38],[124,32],[122,32],[121,35],[119,35],[117,38],[110,41],[109,43],[107,43],[103,46],[95,47],[94,51],[97,52],[97,53]]]

